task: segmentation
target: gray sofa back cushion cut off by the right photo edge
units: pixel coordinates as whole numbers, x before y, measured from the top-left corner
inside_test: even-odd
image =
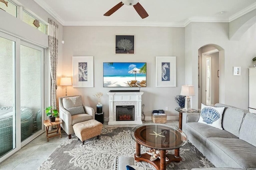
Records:
[[[239,131],[239,138],[256,147],[256,114],[255,113],[246,113],[241,129]]]

